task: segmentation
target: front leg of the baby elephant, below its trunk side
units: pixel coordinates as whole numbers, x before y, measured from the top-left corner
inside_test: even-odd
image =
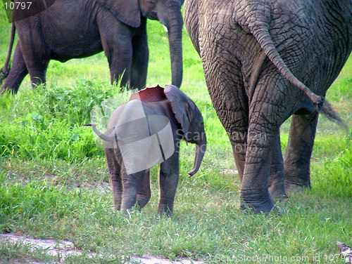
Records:
[[[172,156],[160,164],[159,185],[160,200],[158,205],[159,215],[165,213],[172,216],[175,194],[179,180],[179,153],[175,150]]]

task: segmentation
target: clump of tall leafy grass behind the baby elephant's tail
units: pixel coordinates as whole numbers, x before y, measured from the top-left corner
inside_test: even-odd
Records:
[[[20,96],[1,96],[1,126],[6,131],[0,136],[2,157],[82,161],[101,155],[92,131],[82,125],[89,123],[92,107],[113,96],[115,88],[87,79],[76,85],[80,89],[47,86],[25,90]]]

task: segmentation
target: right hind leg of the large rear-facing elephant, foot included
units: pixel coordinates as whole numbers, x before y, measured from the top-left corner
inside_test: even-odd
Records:
[[[245,209],[248,206],[256,213],[272,210],[274,204],[269,193],[269,179],[272,175],[272,184],[274,184],[274,171],[277,172],[275,163],[282,162],[279,161],[278,134],[279,127],[289,114],[286,108],[289,99],[282,96],[282,92],[277,91],[287,82],[280,79],[278,75],[277,72],[270,71],[270,68],[267,74],[263,74],[265,78],[258,81],[256,93],[249,107],[249,132],[246,164],[241,183],[241,208]],[[279,178],[282,177],[281,170],[278,171]]]

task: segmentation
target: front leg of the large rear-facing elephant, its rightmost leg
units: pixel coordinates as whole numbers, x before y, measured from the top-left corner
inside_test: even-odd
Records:
[[[289,143],[285,152],[284,172],[287,192],[310,188],[310,157],[313,151],[318,112],[292,115]]]

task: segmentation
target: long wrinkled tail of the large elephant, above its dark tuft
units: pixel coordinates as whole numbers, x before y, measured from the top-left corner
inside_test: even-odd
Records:
[[[310,100],[313,101],[313,103],[317,105],[322,105],[324,103],[325,98],[323,98],[320,95],[316,95],[312,91],[310,91],[310,88],[308,88],[305,84],[303,84],[301,81],[299,81],[294,74],[289,70],[287,65],[285,64],[284,60],[282,60],[281,56],[279,55],[279,52],[277,51],[277,48],[275,47],[274,42],[272,41],[272,37],[270,36],[269,30],[268,30],[268,25],[256,25],[251,29],[251,32],[253,36],[256,38],[258,41],[258,44],[260,47],[263,49],[265,55],[268,56],[269,60],[277,67],[277,70],[287,79],[291,84],[294,84],[294,86],[297,86],[298,88],[301,89]],[[254,74],[258,75],[258,74]],[[257,77],[258,78],[258,77]],[[253,85],[256,84],[257,80],[251,80],[251,83]]]

